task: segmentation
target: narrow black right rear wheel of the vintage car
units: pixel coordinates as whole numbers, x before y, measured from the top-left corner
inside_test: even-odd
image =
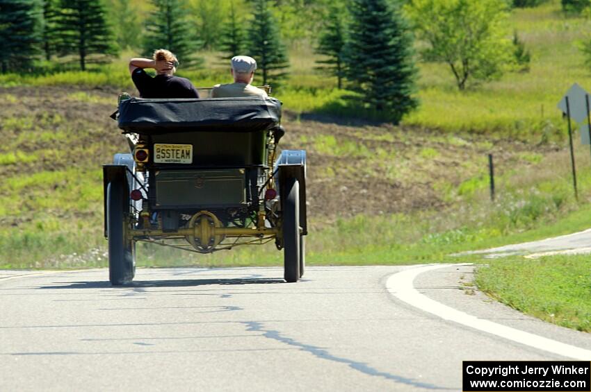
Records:
[[[283,205],[283,260],[284,278],[287,282],[300,279],[300,183],[288,178],[285,185],[286,199]]]

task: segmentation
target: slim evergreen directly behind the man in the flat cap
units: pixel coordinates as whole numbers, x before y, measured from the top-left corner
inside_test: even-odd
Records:
[[[266,85],[268,80],[285,76],[283,70],[289,67],[289,62],[268,0],[254,0],[253,6],[253,19],[248,32],[250,56],[257,60],[263,84]]]

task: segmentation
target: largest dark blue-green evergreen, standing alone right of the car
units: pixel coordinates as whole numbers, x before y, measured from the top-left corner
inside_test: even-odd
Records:
[[[346,44],[348,79],[366,103],[397,123],[416,108],[412,35],[398,1],[352,0]]]

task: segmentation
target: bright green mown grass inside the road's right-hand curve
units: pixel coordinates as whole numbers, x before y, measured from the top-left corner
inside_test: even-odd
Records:
[[[510,307],[575,330],[591,332],[591,258],[510,257],[480,267],[481,290]]]

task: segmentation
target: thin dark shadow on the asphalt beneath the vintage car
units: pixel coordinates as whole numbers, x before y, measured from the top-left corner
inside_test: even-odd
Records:
[[[122,286],[111,286],[110,282],[64,282],[51,286],[40,286],[38,289],[126,289],[135,287],[197,287],[213,284],[241,285],[241,284],[276,284],[285,283],[283,279],[271,278],[231,278],[231,279],[172,279],[172,280],[138,280]]]

